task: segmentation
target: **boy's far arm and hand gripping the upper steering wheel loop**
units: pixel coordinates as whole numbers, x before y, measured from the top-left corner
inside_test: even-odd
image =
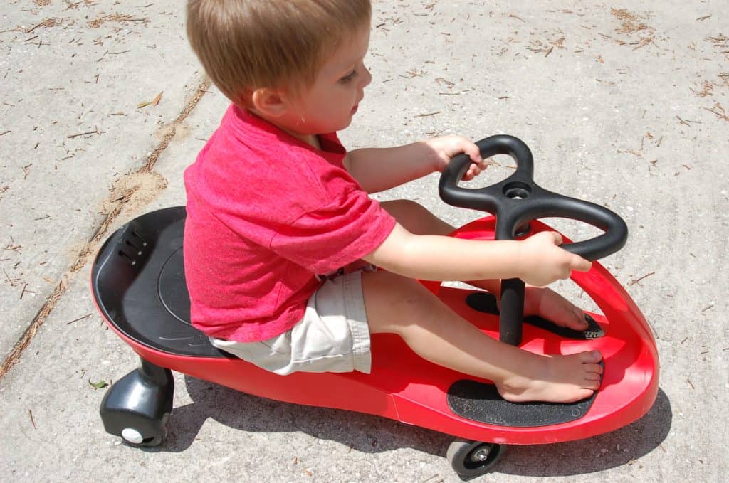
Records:
[[[396,148],[355,149],[347,153],[344,167],[364,191],[376,193],[443,171],[451,158],[461,152],[473,160],[464,180],[486,169],[477,146],[461,136],[432,138]]]

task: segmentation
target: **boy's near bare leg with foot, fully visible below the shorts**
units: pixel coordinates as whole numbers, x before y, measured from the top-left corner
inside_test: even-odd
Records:
[[[599,352],[539,356],[504,344],[393,273],[363,273],[362,290],[371,333],[398,334],[434,364],[491,380],[508,401],[579,401],[599,387]]]

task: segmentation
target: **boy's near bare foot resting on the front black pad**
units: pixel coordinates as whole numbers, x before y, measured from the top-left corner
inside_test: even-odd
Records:
[[[569,356],[529,358],[526,375],[514,374],[496,382],[502,398],[512,402],[574,402],[592,396],[600,387],[601,353],[597,350]]]

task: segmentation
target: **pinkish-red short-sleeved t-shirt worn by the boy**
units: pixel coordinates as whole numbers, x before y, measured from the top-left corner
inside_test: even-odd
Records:
[[[184,173],[192,325],[238,342],[303,317],[321,285],[386,239],[394,219],[344,169],[334,133],[315,149],[230,106]]]

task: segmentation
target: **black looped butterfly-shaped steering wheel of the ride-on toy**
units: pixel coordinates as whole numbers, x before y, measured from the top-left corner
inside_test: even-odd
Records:
[[[593,261],[623,248],[628,226],[620,216],[595,203],[558,195],[534,183],[534,159],[523,141],[497,135],[477,141],[476,145],[483,159],[508,154],[516,162],[515,172],[486,188],[463,188],[458,184],[472,161],[467,154],[459,154],[443,170],[438,192],[449,205],[496,216],[496,240],[512,240],[518,228],[531,220],[556,217],[583,221],[604,231],[590,240],[565,243],[561,247],[566,251]]]

